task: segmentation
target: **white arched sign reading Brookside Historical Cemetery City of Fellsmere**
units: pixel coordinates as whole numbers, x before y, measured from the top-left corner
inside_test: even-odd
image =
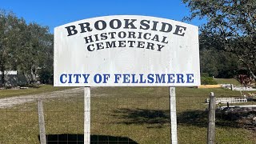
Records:
[[[54,86],[198,86],[198,27],[116,15],[54,29]]]

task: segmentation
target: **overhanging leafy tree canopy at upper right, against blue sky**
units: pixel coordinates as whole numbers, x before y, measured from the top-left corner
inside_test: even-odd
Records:
[[[200,43],[208,49],[234,54],[256,79],[255,0],[182,0],[190,16],[206,19],[200,30]]]

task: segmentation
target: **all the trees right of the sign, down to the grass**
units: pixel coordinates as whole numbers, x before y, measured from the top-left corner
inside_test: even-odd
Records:
[[[201,72],[256,79],[256,1],[182,0],[190,9],[185,20],[204,19],[200,26]]]

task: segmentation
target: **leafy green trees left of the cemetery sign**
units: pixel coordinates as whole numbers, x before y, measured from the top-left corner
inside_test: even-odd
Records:
[[[48,27],[0,10],[1,86],[5,86],[8,70],[17,70],[27,84],[52,82],[53,58],[54,36]]]

